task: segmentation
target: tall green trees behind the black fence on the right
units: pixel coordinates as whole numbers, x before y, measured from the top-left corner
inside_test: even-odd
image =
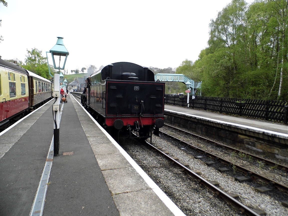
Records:
[[[287,0],[232,0],[210,23],[209,47],[177,69],[204,96],[288,100]]]

